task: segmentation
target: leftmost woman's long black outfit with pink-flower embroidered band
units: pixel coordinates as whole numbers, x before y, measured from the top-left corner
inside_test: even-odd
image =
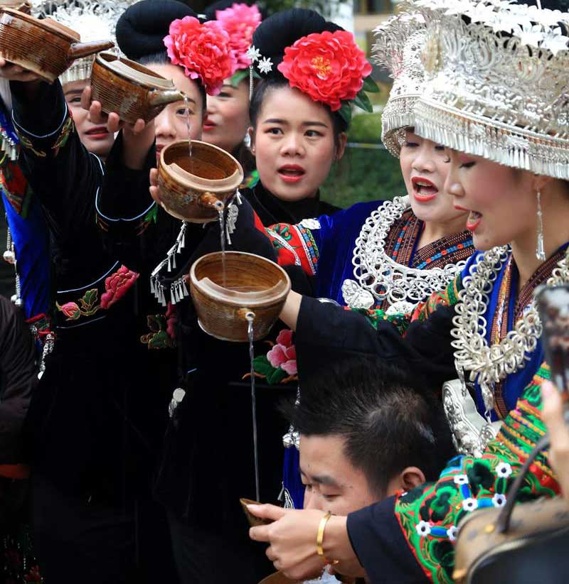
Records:
[[[48,526],[48,545],[40,546],[48,555],[41,557],[40,551],[38,556],[42,563],[58,566],[56,582],[72,581],[72,566],[80,564],[85,571],[93,568],[98,581],[119,582],[122,561],[100,561],[97,571],[92,564],[99,556],[114,556],[111,548],[124,540],[129,571],[140,568],[134,565],[134,548],[141,545],[135,518],[140,502],[150,497],[166,427],[169,394],[164,380],[175,379],[175,355],[150,354],[138,342],[147,315],[139,310],[136,274],[129,272],[132,286],[124,294],[127,288],[112,288],[121,264],[105,249],[95,222],[105,167],[81,144],[59,82],[42,83],[33,99],[21,84],[11,83],[11,89],[14,123],[23,138],[18,163],[46,213],[60,307],[53,311],[55,347],[25,426],[28,460],[39,478],[32,498],[46,502],[33,507],[42,509],[32,517],[38,533]],[[84,509],[78,501],[96,505]],[[151,519],[160,512],[155,505],[144,513],[157,542],[152,561],[163,566],[166,581],[175,583],[171,550],[159,545],[167,539],[166,524]],[[58,514],[73,521],[58,522]],[[115,524],[116,531],[110,521],[107,531],[91,538],[98,521],[117,516],[125,519]],[[58,530],[51,541],[50,529]],[[75,539],[83,545],[65,548],[65,541]],[[60,558],[68,553],[75,555],[65,564]]]

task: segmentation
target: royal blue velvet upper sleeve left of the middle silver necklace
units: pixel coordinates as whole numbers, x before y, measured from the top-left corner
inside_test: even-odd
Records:
[[[358,202],[356,205],[319,217],[320,229],[311,229],[319,249],[316,293],[345,305],[342,284],[353,279],[353,248],[366,219],[383,201]]]

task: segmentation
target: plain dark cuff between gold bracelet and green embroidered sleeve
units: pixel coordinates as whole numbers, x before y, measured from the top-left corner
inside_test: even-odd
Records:
[[[348,534],[371,584],[429,582],[395,518],[395,497],[348,515]]]

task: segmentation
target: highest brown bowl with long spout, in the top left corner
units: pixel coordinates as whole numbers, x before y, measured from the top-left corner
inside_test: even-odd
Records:
[[[55,81],[75,59],[111,48],[111,40],[81,43],[80,36],[51,18],[33,18],[0,6],[0,57]]]

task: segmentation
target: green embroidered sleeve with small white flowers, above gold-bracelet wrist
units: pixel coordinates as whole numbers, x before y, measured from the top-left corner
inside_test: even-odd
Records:
[[[539,414],[539,388],[548,378],[548,367],[541,367],[482,458],[454,458],[437,482],[422,485],[395,502],[395,516],[403,534],[433,582],[452,582],[452,544],[457,536],[457,525],[465,514],[506,504],[506,492],[528,453],[545,433]],[[542,453],[528,474],[520,499],[553,497],[558,492],[558,484]]]

